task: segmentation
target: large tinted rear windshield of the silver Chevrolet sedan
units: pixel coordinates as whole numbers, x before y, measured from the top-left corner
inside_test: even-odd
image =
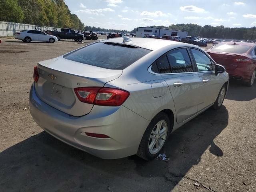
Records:
[[[149,52],[151,51],[144,48],[95,43],[63,57],[101,68],[123,70]]]

